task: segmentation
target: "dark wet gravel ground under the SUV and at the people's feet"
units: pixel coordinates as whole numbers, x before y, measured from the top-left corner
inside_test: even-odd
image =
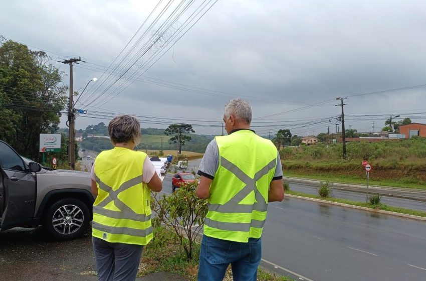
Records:
[[[0,233],[0,279],[14,281],[97,280],[91,229],[72,241],[53,241],[43,227]],[[167,272],[137,280],[185,281]]]

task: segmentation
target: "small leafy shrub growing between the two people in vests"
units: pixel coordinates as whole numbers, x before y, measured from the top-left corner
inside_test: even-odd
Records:
[[[192,259],[193,245],[207,214],[207,201],[196,196],[196,187],[197,183],[182,185],[169,196],[155,193],[151,201],[152,211],[157,214],[153,225],[163,224],[173,229],[188,260]]]

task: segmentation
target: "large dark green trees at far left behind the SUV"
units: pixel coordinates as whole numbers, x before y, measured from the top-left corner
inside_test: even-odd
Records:
[[[41,160],[40,133],[59,129],[61,98],[67,100],[64,73],[49,61],[45,52],[0,36],[0,139],[36,161]]]

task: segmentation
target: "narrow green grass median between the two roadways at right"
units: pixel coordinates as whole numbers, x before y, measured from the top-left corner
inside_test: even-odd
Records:
[[[302,197],[321,199],[321,200],[330,201],[330,202],[338,202],[338,203],[343,203],[343,204],[348,204],[348,205],[367,207],[367,208],[371,208],[371,209],[378,209],[378,210],[383,210],[383,211],[390,211],[390,212],[395,212],[395,213],[426,217],[426,212],[423,212],[423,211],[417,211],[417,210],[405,209],[405,208],[399,208],[399,207],[392,207],[392,206],[387,206],[387,205],[381,204],[381,203],[378,204],[378,205],[372,205],[370,203],[352,201],[352,200],[347,200],[347,199],[339,199],[339,198],[334,198],[334,197],[321,198],[318,195],[307,194],[307,193],[291,191],[291,190],[287,191],[286,193],[292,194],[292,195],[298,195],[298,196],[302,196]]]

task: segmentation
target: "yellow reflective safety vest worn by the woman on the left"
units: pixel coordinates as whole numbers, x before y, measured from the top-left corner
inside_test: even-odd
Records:
[[[152,239],[151,196],[142,183],[146,154],[115,147],[96,158],[98,196],[92,235],[108,242],[146,245]]]

